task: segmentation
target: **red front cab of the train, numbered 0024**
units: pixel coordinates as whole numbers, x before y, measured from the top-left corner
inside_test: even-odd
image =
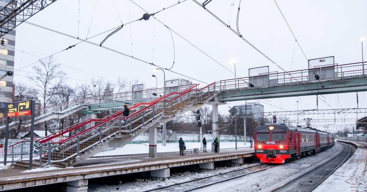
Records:
[[[255,129],[255,154],[264,163],[284,163],[291,156],[288,128],[283,125],[263,125]],[[291,135],[290,135],[291,136]],[[292,139],[291,139],[292,140]]]

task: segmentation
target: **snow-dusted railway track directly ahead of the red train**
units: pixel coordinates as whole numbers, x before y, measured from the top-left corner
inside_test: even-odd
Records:
[[[279,165],[281,165],[281,164],[279,164]],[[254,165],[254,166],[245,167],[245,168],[241,168],[241,169],[237,169],[237,170],[232,170],[232,171],[225,172],[225,173],[215,174],[215,175],[212,175],[212,176],[207,176],[207,177],[202,177],[202,178],[196,178],[196,179],[193,179],[193,180],[190,180],[190,181],[185,181],[185,182],[180,182],[180,183],[176,183],[176,184],[172,184],[172,185],[167,185],[167,186],[163,186],[163,187],[159,187],[159,188],[155,188],[155,189],[150,189],[150,190],[143,191],[143,192],[161,191],[162,189],[164,189],[165,191],[169,190],[169,191],[188,192],[188,191],[193,191],[193,190],[196,190],[196,189],[208,187],[210,185],[218,184],[218,183],[221,183],[221,182],[229,181],[229,180],[232,180],[232,179],[235,179],[235,178],[247,176],[249,174],[261,172],[261,171],[264,171],[266,169],[270,169],[272,167],[276,167],[276,166],[279,166],[279,165],[269,165],[269,164]],[[232,175],[235,175],[235,176],[232,176]],[[229,177],[229,176],[232,176],[232,177]],[[215,180],[214,182],[210,182],[210,181],[208,182],[207,179],[212,178],[212,177],[223,177],[223,179],[222,180],[218,179],[218,180]],[[207,183],[202,185],[202,183],[204,183],[204,182],[207,182]],[[199,187],[192,188],[192,186],[199,186]]]

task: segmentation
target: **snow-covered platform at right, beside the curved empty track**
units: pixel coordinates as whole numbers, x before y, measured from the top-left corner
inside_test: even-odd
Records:
[[[315,192],[366,191],[367,190],[367,143],[353,143],[356,152],[339,169],[319,185]]]

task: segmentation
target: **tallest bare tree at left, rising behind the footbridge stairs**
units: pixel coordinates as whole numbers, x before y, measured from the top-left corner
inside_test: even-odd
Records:
[[[47,113],[46,106],[55,95],[55,88],[65,80],[66,73],[59,70],[61,64],[54,63],[55,60],[56,59],[51,56],[49,60],[40,60],[39,65],[34,65],[32,67],[36,75],[30,76],[30,78],[39,89],[43,113]],[[47,123],[47,121],[44,122],[45,135],[47,135]]]

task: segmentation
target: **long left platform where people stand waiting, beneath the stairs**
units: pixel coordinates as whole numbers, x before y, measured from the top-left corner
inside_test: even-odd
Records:
[[[24,172],[23,169],[0,170],[0,191],[34,187],[77,180],[87,180],[114,176],[120,174],[145,172],[152,170],[167,170],[170,167],[196,165],[215,161],[225,161],[245,157],[254,157],[253,148],[235,150],[221,150],[219,153],[199,153],[180,156],[179,154],[158,154],[157,158],[148,156],[133,156],[119,158],[88,159],[78,167]]]

